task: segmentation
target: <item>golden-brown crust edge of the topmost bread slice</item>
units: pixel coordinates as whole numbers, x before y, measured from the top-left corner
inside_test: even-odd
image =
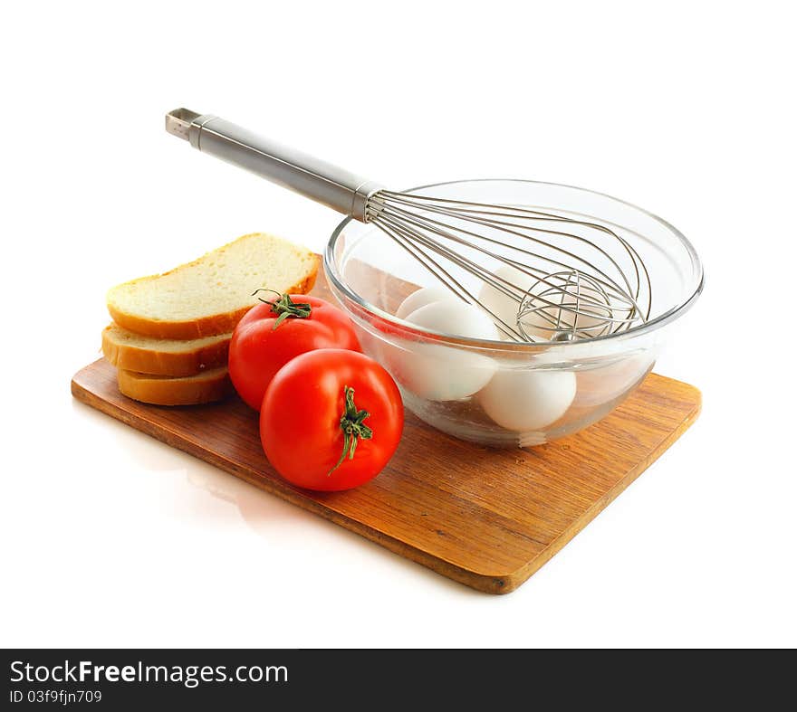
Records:
[[[315,270],[305,279],[294,284],[288,290],[289,293],[306,294],[312,290],[318,275],[320,260],[317,255],[315,258]],[[149,279],[149,278],[145,278]],[[110,302],[108,311],[110,317],[119,324],[120,327],[129,329],[143,337],[155,338],[204,338],[215,337],[233,331],[237,323],[244,317],[245,313],[252,309],[252,305],[242,309],[235,309],[226,314],[214,314],[208,317],[192,319],[190,321],[151,321],[140,318],[134,314],[127,314],[116,309]]]

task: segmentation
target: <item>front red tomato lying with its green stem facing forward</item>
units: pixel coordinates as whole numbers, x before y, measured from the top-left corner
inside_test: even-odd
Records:
[[[403,427],[401,394],[389,373],[340,348],[285,365],[260,411],[266,457],[283,478],[307,489],[351,489],[376,477]]]

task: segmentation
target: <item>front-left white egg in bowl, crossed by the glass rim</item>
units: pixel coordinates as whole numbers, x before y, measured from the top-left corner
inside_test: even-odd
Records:
[[[418,327],[468,338],[497,339],[495,325],[463,301],[437,301],[416,309],[407,320]],[[390,373],[413,394],[430,401],[456,401],[473,395],[495,374],[495,361],[456,347],[392,343],[385,350]]]

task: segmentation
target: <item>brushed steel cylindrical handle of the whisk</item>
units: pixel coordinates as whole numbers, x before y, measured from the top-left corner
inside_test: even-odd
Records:
[[[203,153],[245,168],[361,222],[367,222],[369,196],[383,187],[211,114],[197,114],[188,109],[169,111],[166,130]]]

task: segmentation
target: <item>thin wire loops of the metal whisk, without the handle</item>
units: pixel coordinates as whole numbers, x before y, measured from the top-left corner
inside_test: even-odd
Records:
[[[644,323],[650,315],[645,262],[604,224],[525,206],[388,190],[369,197],[365,222],[397,242],[456,297],[484,311],[510,340],[605,336]],[[554,224],[589,237],[554,229]],[[609,243],[600,245],[599,235]],[[537,249],[527,249],[527,243]],[[629,270],[621,267],[623,259]],[[502,266],[512,268],[511,278],[499,273]],[[511,319],[491,309],[485,290],[516,305]]]

